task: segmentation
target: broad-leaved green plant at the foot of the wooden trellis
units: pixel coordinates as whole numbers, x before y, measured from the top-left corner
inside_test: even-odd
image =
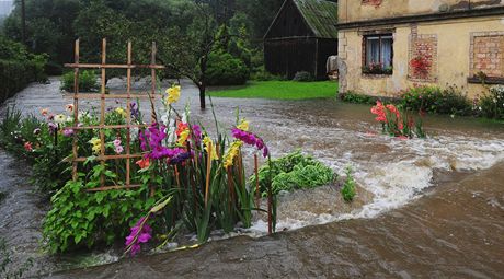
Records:
[[[126,236],[134,219],[153,206],[148,190],[108,190],[88,193],[96,187],[100,176],[115,179],[116,174],[95,165],[91,179],[69,181],[51,198],[53,209],[44,220],[44,239],[50,253],[66,252],[98,244],[111,245]]]

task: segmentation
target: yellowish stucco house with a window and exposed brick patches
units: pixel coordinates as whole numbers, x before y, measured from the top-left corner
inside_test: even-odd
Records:
[[[504,1],[340,0],[340,92],[504,83]]]

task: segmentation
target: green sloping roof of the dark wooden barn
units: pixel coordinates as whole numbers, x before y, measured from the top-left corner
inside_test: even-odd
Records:
[[[337,38],[337,3],[325,0],[293,0],[293,2],[316,37]]]

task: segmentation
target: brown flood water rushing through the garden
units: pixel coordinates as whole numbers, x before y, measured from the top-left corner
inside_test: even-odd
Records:
[[[8,104],[15,103],[26,113],[42,107],[62,112],[71,101],[53,81],[32,85]],[[211,125],[211,111],[197,109],[195,89],[184,84],[183,94],[182,103],[193,101],[192,117]],[[277,229],[282,232],[275,235],[264,236],[266,224],[257,220],[241,236],[197,249],[122,259],[51,277],[504,276],[504,125],[429,116],[424,120],[427,139],[398,140],[380,135],[369,106],[334,100],[230,98],[215,98],[214,105],[221,129],[234,121],[239,106],[273,156],[301,149],[340,174],[352,165],[359,185],[355,204],[345,205],[335,185],[287,194],[280,197]],[[1,160],[12,159],[2,155]],[[1,175],[12,177],[13,172]],[[33,220],[24,226],[33,226],[34,232],[24,232],[14,220],[25,209],[12,202],[33,206],[37,197],[15,196],[18,189],[1,185],[8,198],[0,204],[0,233],[8,240],[12,231],[25,233],[28,236],[11,244],[20,247],[20,255],[39,255],[33,252],[36,245],[23,251],[16,242],[39,237],[36,229],[44,207],[25,212]],[[46,267],[41,270],[64,268],[57,259],[38,258]]]

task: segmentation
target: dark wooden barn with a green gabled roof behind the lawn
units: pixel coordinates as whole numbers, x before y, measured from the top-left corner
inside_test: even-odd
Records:
[[[337,50],[337,4],[325,0],[286,0],[264,36],[268,72],[294,78],[307,71],[327,79],[327,59]]]

